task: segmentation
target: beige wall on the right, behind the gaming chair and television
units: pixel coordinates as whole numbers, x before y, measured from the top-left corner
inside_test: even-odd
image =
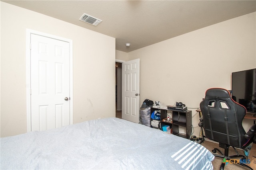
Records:
[[[146,98],[164,105],[183,102],[192,110],[198,136],[194,108],[205,91],[231,89],[232,72],[256,68],[255,25],[256,12],[128,53],[129,60],[140,58],[140,103]]]

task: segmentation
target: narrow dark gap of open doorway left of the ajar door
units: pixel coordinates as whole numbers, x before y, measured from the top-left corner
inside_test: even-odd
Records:
[[[122,118],[122,63],[116,62],[116,117]]]

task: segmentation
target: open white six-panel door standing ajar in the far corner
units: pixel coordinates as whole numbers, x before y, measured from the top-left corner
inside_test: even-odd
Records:
[[[139,123],[140,59],[122,63],[122,119]]]

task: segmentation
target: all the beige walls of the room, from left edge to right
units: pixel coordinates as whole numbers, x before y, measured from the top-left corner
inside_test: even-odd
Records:
[[[124,53],[112,37],[4,2],[0,8],[1,137],[26,132],[27,28],[73,40],[74,123],[114,116],[115,59],[140,58],[140,104],[183,102],[194,135],[205,90],[230,89],[231,72],[256,67],[255,12]]]

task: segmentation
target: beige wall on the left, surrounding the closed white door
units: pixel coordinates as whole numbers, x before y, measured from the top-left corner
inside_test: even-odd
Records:
[[[73,40],[74,123],[115,116],[113,37],[4,2],[0,4],[1,137],[27,130],[26,29]]]

